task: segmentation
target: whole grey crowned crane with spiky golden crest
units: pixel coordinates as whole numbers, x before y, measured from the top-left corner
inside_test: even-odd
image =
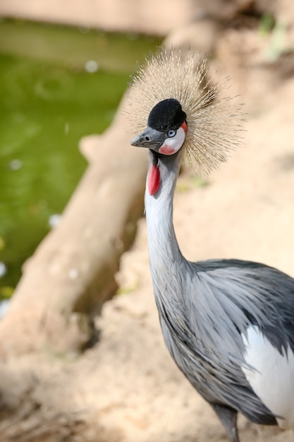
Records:
[[[243,114],[227,78],[191,49],[159,49],[128,92],[130,144],[147,148],[145,215],[159,322],[174,362],[239,442],[237,417],[294,428],[294,280],[263,263],[188,261],[173,227],[187,158],[206,176],[242,144]],[[230,80],[228,80],[230,81]]]

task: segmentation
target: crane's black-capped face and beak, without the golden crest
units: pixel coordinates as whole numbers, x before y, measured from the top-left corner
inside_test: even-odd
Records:
[[[130,144],[149,148],[163,155],[173,155],[185,141],[188,127],[186,118],[178,100],[162,100],[149,113],[145,131],[133,138]]]

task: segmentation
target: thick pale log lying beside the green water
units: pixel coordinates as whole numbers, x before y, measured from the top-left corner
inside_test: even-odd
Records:
[[[94,338],[92,317],[116,292],[114,275],[143,215],[147,155],[130,146],[124,104],[102,136],[80,143],[89,160],[55,227],[24,266],[0,323],[0,354],[72,352]]]

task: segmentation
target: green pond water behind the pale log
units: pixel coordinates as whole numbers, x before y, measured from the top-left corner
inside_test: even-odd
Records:
[[[13,292],[49,217],[62,212],[85,171],[79,139],[109,126],[136,61],[158,44],[85,28],[0,23],[0,299]]]

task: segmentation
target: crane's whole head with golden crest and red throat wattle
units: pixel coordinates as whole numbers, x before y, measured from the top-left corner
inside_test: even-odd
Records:
[[[160,167],[178,167],[176,153],[183,151],[195,172],[207,177],[240,145],[240,105],[223,95],[224,85],[211,82],[207,60],[190,50],[162,48],[139,68],[126,113],[134,134],[140,133],[130,143],[152,153],[151,195],[164,178]]]

